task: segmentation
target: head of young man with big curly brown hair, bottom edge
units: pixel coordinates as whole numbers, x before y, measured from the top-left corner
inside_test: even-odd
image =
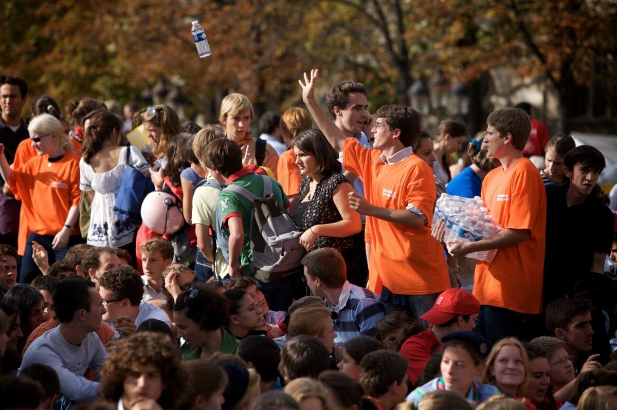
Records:
[[[118,409],[175,409],[186,377],[172,340],[143,332],[120,340],[110,351],[99,394]]]

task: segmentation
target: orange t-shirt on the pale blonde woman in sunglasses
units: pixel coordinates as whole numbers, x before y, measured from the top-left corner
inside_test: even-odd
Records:
[[[56,235],[68,216],[79,205],[79,155],[67,152],[56,162],[37,155],[10,174],[9,186],[22,200],[28,229],[39,235]],[[80,234],[75,224],[72,235]]]

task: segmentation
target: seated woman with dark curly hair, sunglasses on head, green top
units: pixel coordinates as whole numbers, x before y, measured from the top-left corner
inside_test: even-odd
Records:
[[[183,358],[209,358],[217,351],[236,353],[239,341],[225,327],[230,302],[212,287],[196,284],[184,290],[173,306],[173,322],[178,337],[184,339],[180,347]]]

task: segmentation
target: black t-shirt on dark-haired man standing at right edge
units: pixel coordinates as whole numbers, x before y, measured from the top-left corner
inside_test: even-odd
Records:
[[[594,253],[609,252],[615,216],[590,194],[584,202],[568,207],[569,182],[546,187],[546,251],[544,256],[544,305],[573,296],[574,282],[589,273]]]

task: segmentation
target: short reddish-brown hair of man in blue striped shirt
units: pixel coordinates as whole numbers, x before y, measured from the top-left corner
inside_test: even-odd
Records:
[[[319,248],[302,258],[310,277],[317,277],[331,289],[342,287],[347,281],[347,268],[341,252],[334,248]]]

